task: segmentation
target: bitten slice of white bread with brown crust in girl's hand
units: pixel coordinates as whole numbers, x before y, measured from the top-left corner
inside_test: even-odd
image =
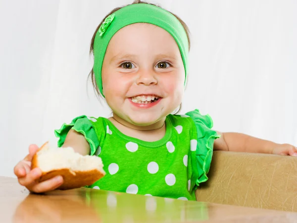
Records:
[[[73,148],[49,148],[48,142],[33,156],[31,169],[40,168],[40,181],[62,176],[64,182],[57,189],[66,190],[88,186],[105,176],[98,156],[83,156]]]

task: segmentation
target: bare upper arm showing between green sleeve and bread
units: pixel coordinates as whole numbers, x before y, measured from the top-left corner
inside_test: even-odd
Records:
[[[75,152],[78,152],[81,155],[90,155],[91,148],[89,142],[83,134],[80,134],[73,129],[68,132],[62,147],[68,146],[72,147]]]

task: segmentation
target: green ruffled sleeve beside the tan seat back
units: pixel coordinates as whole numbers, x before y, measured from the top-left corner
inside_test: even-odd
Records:
[[[201,115],[198,109],[188,112],[186,115],[193,119],[197,131],[197,146],[196,150],[193,149],[195,152],[195,159],[193,160],[196,161],[194,162],[196,165],[193,165],[193,173],[196,185],[199,186],[201,182],[205,182],[208,179],[206,175],[210,169],[213,143],[220,135],[211,130],[213,122],[209,115]],[[196,133],[196,131],[194,132]],[[193,140],[191,140],[191,146],[196,144],[196,138],[194,137],[195,134],[193,135]],[[192,141],[195,143],[192,143]]]

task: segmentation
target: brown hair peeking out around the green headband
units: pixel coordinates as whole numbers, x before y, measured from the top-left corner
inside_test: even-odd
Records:
[[[148,2],[145,2],[145,1],[142,1],[142,0],[134,0],[134,2],[133,2],[132,4],[139,4],[139,3],[151,4],[151,5],[155,5],[155,6],[157,6],[157,7],[160,7],[159,5],[152,4],[152,3],[148,3]],[[128,4],[128,5],[130,5],[130,4]],[[114,8],[113,10],[111,10],[111,11],[110,11],[110,12],[109,12],[109,13],[102,19],[102,21],[101,21],[100,24],[98,25],[98,27],[97,27],[95,33],[93,34],[93,37],[92,37],[92,40],[91,40],[91,46],[90,46],[90,55],[91,55],[92,53],[94,53],[94,41],[95,41],[95,36],[96,36],[96,34],[97,34],[97,31],[99,30],[99,27],[101,26],[101,24],[102,24],[103,21],[105,20],[105,18],[108,17],[109,15],[111,15],[112,13],[116,12],[117,10],[119,10],[119,9],[121,9],[121,8],[123,8],[123,7],[125,7],[125,6],[127,6],[127,5],[124,5],[124,6],[122,6],[122,7]],[[161,8],[161,7],[160,7],[160,8]],[[170,12],[170,13],[173,14],[172,12]],[[180,21],[180,23],[183,25],[183,27],[184,27],[184,29],[185,29],[185,31],[186,31],[187,38],[188,38],[188,43],[189,43],[189,51],[190,51],[190,46],[191,46],[191,42],[190,42],[190,30],[189,30],[187,24],[186,24],[180,17],[178,17],[178,16],[175,15],[175,14],[173,14],[173,15]],[[90,73],[89,73],[89,77],[88,77],[88,78],[90,78],[90,76],[91,76],[92,85],[93,85],[94,91],[96,92],[96,95],[99,95],[100,97],[102,97],[102,95],[101,95],[101,93],[100,93],[100,91],[99,91],[99,89],[98,89],[98,86],[97,86],[97,84],[96,84],[96,79],[95,79],[95,74],[94,74],[94,67],[93,67],[92,70],[90,71]],[[176,113],[180,112],[181,107],[182,107],[182,105],[180,105],[180,108],[179,108],[179,110],[178,110]],[[175,113],[175,114],[176,114],[176,113]]]

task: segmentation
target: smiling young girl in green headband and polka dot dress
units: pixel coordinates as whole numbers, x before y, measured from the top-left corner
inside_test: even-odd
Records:
[[[80,116],[55,131],[59,147],[101,157],[106,175],[90,188],[195,200],[213,149],[297,156],[289,144],[214,131],[210,116],[198,110],[173,115],[184,95],[189,49],[186,24],[140,0],[114,9],[99,24],[91,74],[113,116]],[[61,176],[38,183],[41,171],[30,170],[37,149],[29,147],[15,175],[30,191],[54,190]]]

